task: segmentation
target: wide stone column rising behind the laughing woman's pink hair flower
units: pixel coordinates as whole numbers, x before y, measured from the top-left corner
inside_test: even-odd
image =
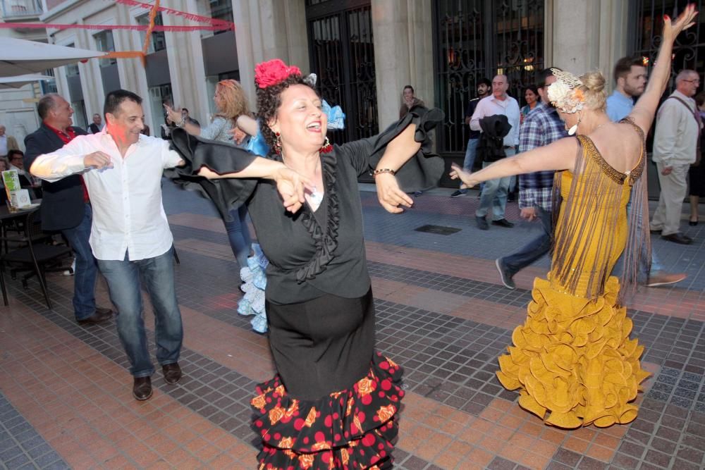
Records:
[[[241,0],[233,2],[235,42],[238,46],[240,82],[252,107],[255,98],[255,65],[272,58],[309,73],[306,7],[304,0]]]

